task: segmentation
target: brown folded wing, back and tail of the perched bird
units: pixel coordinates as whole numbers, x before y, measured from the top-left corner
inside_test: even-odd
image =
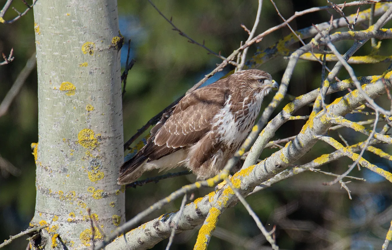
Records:
[[[129,179],[129,175],[146,161],[172,154],[181,147],[193,145],[203,138],[211,129],[212,118],[223,107],[227,99],[227,91],[229,90],[222,89],[220,86],[210,85],[182,98],[174,110],[165,113],[151,129],[151,137],[147,140],[147,144],[122,165],[118,179],[124,183],[122,180]],[[211,146],[205,145],[205,147]],[[201,155],[198,161],[206,160],[206,157],[208,156]]]

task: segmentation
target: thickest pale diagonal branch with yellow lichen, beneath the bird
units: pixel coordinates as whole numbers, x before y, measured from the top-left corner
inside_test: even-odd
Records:
[[[372,78],[373,77],[365,77],[360,80],[367,80],[367,82],[370,82]],[[386,80],[387,87],[391,88],[390,80]],[[337,91],[339,87],[344,89],[343,86],[350,87],[353,86],[353,83],[348,80],[335,83],[331,85],[330,90],[328,91]],[[364,84],[363,89],[372,98],[376,98],[380,94],[385,93],[385,87],[381,79],[373,83]],[[356,91],[357,90],[352,91],[343,98],[338,98],[336,101],[327,106],[327,111],[321,110],[318,114],[314,114],[296,138],[287,143],[283,149],[275,152],[267,159],[261,161],[261,163],[252,165],[240,172],[237,172],[231,179],[234,187],[238,188],[241,195],[246,196],[252,192],[256,186],[260,185],[260,183],[267,181],[271,177],[283,171],[284,168],[290,165],[290,162],[301,158],[301,156],[303,156],[303,154],[305,154],[316,143],[316,141],[318,141],[314,135],[325,134],[328,128],[332,125],[331,122],[326,120],[329,113],[343,116],[365,102],[364,98]],[[294,112],[294,109],[299,108],[298,103],[304,104],[307,103],[307,101],[316,99],[319,94],[319,90],[315,90],[310,93],[294,100],[293,103],[288,106],[292,107],[293,110],[291,112]],[[318,103],[317,105],[320,104]],[[282,116],[282,114],[279,114],[278,116]],[[324,163],[325,162],[327,161],[324,161]],[[169,237],[172,229],[170,225],[173,221],[179,221],[177,232],[189,230],[203,223],[209,214],[211,218],[218,218],[218,214],[221,214],[228,207],[236,205],[237,202],[238,199],[234,195],[234,192],[231,188],[225,186],[219,190],[217,194],[211,192],[207,196],[198,198],[193,203],[186,205],[182,216],[179,216],[178,212],[163,214],[161,217],[149,221],[138,228],[133,229],[131,232],[128,232],[125,235],[126,243],[124,237],[118,237],[108,246],[113,246],[113,249],[122,249],[125,246],[129,247],[129,249],[150,248],[162,239]],[[210,211],[214,213],[211,214]],[[200,239],[199,242],[205,242],[204,240],[205,238],[203,238],[203,241]]]

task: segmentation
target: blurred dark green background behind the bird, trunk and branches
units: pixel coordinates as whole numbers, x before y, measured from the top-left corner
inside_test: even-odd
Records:
[[[4,3],[5,0],[1,0],[0,6]],[[240,41],[247,39],[247,33],[240,24],[245,24],[251,29],[257,10],[256,0],[156,0],[154,4],[168,18],[172,17],[173,23],[181,31],[200,43],[205,40],[207,47],[217,53],[220,51],[223,56],[229,55],[238,48]],[[276,4],[281,14],[289,18],[295,11],[324,6],[327,2],[278,0]],[[15,1],[13,6],[19,11],[25,9],[22,1]],[[361,10],[369,7],[370,5],[362,5]],[[352,14],[355,13],[356,7],[346,7],[344,11]],[[118,0],[118,13],[120,31],[125,41],[132,39],[130,57],[136,60],[134,67],[129,71],[127,92],[123,100],[124,139],[127,140],[152,116],[181,96],[205,74],[211,72],[216,63],[220,63],[221,60],[207,54],[203,48],[187,42],[186,38],[177,34],[178,32],[172,31],[171,25],[146,0]],[[333,10],[329,10],[329,13],[332,13],[334,18],[339,17]],[[294,30],[301,29],[328,21],[329,13],[321,11],[307,14],[296,18],[290,24]],[[9,20],[15,15],[16,13],[9,9],[4,18]],[[258,33],[280,23],[281,19],[272,4],[264,1]],[[8,55],[13,47],[15,56],[12,63],[0,67],[0,100],[4,98],[27,59],[35,51],[33,26],[33,11],[14,24],[0,24],[0,51]],[[356,27],[356,29],[363,28],[364,26]],[[347,27],[341,30],[347,31]],[[288,28],[280,29],[256,46],[264,49],[287,34],[290,34]],[[345,52],[351,45],[352,41],[340,42],[338,49]],[[256,46],[250,47],[248,58],[256,51]],[[292,48],[298,46],[299,44],[296,44]],[[370,51],[370,42],[368,42],[357,54],[366,55]],[[379,54],[392,54],[390,41],[382,42]],[[126,55],[127,44],[122,48],[123,67]],[[261,65],[260,69],[270,72],[273,78],[280,82],[286,65],[287,60],[276,58]],[[334,63],[330,62],[327,65],[332,69]],[[382,74],[388,66],[388,63],[355,65],[354,69],[357,76],[368,76]],[[230,70],[232,68],[227,67],[217,73],[209,83],[218,80]],[[320,84],[320,75],[319,63],[300,60],[290,82],[289,94],[298,96],[316,89]],[[348,74],[343,71],[338,77],[346,79]],[[345,93],[347,91],[332,94],[327,97],[327,102]],[[272,94],[264,103],[268,103],[271,98]],[[272,117],[287,102],[283,101]],[[380,98],[379,103],[383,103],[385,107],[389,106],[387,98]],[[0,155],[21,170],[18,176],[9,175],[4,169],[0,175],[0,240],[8,239],[9,235],[17,234],[27,228],[34,214],[35,165],[30,144],[38,141],[37,107],[37,75],[34,70],[7,114],[0,117]],[[308,115],[310,111],[310,107],[305,107],[296,115]],[[347,118],[354,121],[367,119],[358,114],[348,115]],[[304,123],[305,121],[287,122],[276,132],[275,138],[295,135]],[[379,128],[383,124],[380,123]],[[339,132],[350,144],[358,142],[359,139],[366,139],[365,136],[352,130],[341,129]],[[331,135],[338,138],[337,132]],[[392,152],[386,146],[378,147],[386,152]],[[261,159],[276,150],[278,149],[264,150]],[[325,143],[318,143],[297,164],[307,163],[332,150]],[[391,170],[390,162],[385,159],[370,153],[365,153],[365,158],[379,167]],[[323,170],[343,173],[351,162],[347,158],[342,158],[324,166]],[[390,185],[388,186],[390,183],[364,168],[361,171],[354,170],[352,174],[368,180],[366,183],[353,181],[348,184],[353,195],[352,201],[348,199],[347,192],[339,189],[338,185],[332,187],[322,185],[323,182],[332,180],[332,177],[313,172],[282,181],[250,196],[247,201],[267,229],[271,230],[276,225],[277,243],[282,249],[381,249],[386,228],[392,219],[392,194]],[[151,172],[143,177],[156,175],[158,172]],[[194,176],[189,175],[149,183],[143,187],[129,188],[126,192],[127,219],[194,180]],[[194,197],[201,197],[211,191],[212,189],[198,190],[194,193]],[[175,201],[162,210],[154,212],[143,222],[178,209],[180,202],[180,200]],[[197,232],[196,228],[178,234],[171,249],[192,249]],[[228,209],[220,217],[214,236],[209,249],[263,249],[262,246],[269,246],[241,204]],[[4,249],[25,249],[26,244],[27,241],[22,237]],[[153,249],[164,249],[166,244],[167,239]]]

